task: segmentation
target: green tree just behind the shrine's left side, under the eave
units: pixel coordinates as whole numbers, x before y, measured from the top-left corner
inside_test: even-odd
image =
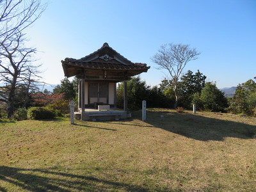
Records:
[[[53,93],[64,93],[63,99],[74,100],[76,99],[76,88],[73,82],[70,82],[67,77],[61,80],[61,84],[58,84]]]

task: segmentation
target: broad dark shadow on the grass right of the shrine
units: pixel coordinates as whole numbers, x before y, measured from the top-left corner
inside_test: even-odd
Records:
[[[134,118],[140,119],[139,112]],[[146,123],[200,141],[223,141],[227,137],[256,139],[256,126],[191,113],[147,111]]]

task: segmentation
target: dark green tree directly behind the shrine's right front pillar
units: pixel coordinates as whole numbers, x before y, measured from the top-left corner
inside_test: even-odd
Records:
[[[145,81],[141,81],[140,76],[132,77],[127,82],[127,102],[130,110],[138,110],[141,108],[142,100],[147,100],[149,86]],[[116,91],[117,106],[124,108],[124,83],[118,84]]]

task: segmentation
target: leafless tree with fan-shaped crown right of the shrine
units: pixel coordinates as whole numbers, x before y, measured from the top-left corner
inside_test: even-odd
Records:
[[[175,93],[174,108],[177,108],[179,100],[179,78],[184,67],[189,61],[196,60],[200,52],[195,48],[190,48],[189,45],[182,44],[165,44],[160,47],[158,52],[151,60],[159,65],[159,69],[168,70],[172,77],[173,91]]]

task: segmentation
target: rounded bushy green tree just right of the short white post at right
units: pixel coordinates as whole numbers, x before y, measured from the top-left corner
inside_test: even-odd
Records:
[[[225,112],[228,107],[227,98],[221,92],[215,83],[205,83],[205,88],[201,92],[203,108],[209,111]]]

